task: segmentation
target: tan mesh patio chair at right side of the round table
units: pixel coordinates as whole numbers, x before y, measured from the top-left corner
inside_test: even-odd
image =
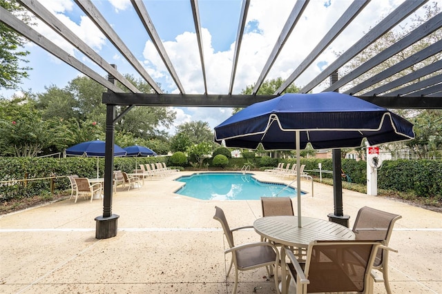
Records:
[[[394,213],[387,213],[383,210],[364,206],[358,211],[353,226],[356,240],[383,240],[383,245],[385,247],[378,249],[373,266],[373,269],[382,273],[383,279],[375,277],[374,281],[384,282],[385,290],[388,294],[392,293],[388,280],[388,253],[390,251],[397,251],[387,246],[390,242],[390,237],[392,236],[394,223],[401,217],[401,215],[395,215]]]

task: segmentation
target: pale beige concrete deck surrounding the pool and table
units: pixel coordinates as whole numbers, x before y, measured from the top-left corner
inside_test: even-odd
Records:
[[[233,228],[261,217],[260,201],[181,197],[173,193],[181,185],[175,177],[130,191],[118,188],[113,196],[118,233],[109,239],[95,239],[101,199],[64,200],[0,216],[0,293],[231,293],[227,244],[214,207],[224,210]],[[302,181],[302,189],[309,192],[311,183]],[[441,213],[349,190],[343,202],[350,226],[362,206],[403,216],[390,241],[399,251],[390,254],[393,293],[442,293]],[[296,211],[296,200],[294,206]],[[314,197],[302,196],[304,216],[327,219],[333,208],[331,186],[315,183]],[[258,240],[253,230],[236,235],[238,244]],[[265,275],[265,268],[240,272],[238,292],[276,293]],[[375,293],[385,293],[383,284],[375,284]]]

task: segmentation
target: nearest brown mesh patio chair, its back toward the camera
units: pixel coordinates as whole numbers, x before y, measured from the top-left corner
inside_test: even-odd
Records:
[[[381,244],[381,241],[361,240],[313,241],[307,248],[305,262],[299,262],[284,246],[281,250],[283,293],[288,293],[291,279],[296,284],[297,294],[372,293],[370,272]]]

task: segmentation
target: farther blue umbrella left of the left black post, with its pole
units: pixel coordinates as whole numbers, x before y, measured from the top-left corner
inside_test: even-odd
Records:
[[[126,150],[114,144],[113,156],[121,157],[126,155]],[[106,142],[95,140],[86,141],[66,149],[66,155],[83,156],[83,157],[97,157],[97,178],[99,177],[98,157],[104,157],[106,150]]]

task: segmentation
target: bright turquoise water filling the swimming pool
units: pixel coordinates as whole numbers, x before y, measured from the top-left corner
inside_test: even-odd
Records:
[[[195,173],[175,181],[186,184],[175,193],[203,200],[253,200],[276,196],[285,184],[259,182],[251,174]],[[296,196],[296,189],[285,188],[278,197]]]

